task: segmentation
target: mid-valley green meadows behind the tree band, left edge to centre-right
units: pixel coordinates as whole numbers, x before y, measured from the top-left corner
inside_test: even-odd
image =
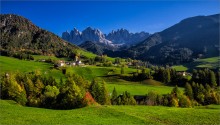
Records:
[[[45,59],[45,56],[37,56],[37,59]],[[61,77],[65,79],[65,75],[63,75],[60,70],[54,69],[52,67],[52,64],[45,62],[26,61],[0,56],[1,73],[14,71],[27,73],[38,70],[46,76],[53,76],[57,80],[57,82],[59,82]],[[130,82],[118,79],[116,75],[120,74],[120,70],[120,67],[68,67],[67,73],[76,73],[89,81],[92,81],[94,78],[100,82],[104,80],[107,83],[107,88],[110,93],[112,92],[114,87],[119,94],[123,93],[124,91],[128,91],[132,95],[145,95],[149,91],[155,91],[159,94],[167,94],[170,93],[173,89],[172,86],[164,86],[163,83],[155,80]],[[132,72],[137,72],[137,69],[125,68],[125,74],[129,74]],[[106,77],[107,75],[110,75],[110,77]],[[180,90],[183,90],[183,88],[180,88]]]

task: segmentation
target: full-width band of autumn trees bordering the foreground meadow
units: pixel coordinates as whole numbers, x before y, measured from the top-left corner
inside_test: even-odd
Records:
[[[209,74],[208,78],[198,77],[204,72]],[[176,85],[168,94],[151,91],[143,95],[142,99],[127,91],[118,94],[116,88],[109,93],[104,81],[89,82],[77,74],[66,74],[65,80],[61,78],[57,82],[53,77],[43,76],[38,71],[28,74],[5,73],[0,80],[0,94],[1,99],[15,100],[21,105],[52,109],[73,109],[90,104],[193,107],[220,104],[218,79],[213,73],[207,69],[194,71],[192,80],[184,85],[184,92]],[[204,78],[207,83],[200,82]]]

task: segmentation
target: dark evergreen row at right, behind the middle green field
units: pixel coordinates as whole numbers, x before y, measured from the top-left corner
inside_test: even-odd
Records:
[[[220,83],[220,72],[219,71],[212,71],[210,69],[194,69],[192,73],[186,73],[185,76],[183,75],[184,72],[177,72],[173,68],[166,68],[166,67],[151,67],[150,69],[147,68],[139,68],[137,72],[133,72],[130,75],[123,75],[124,74],[124,67],[121,67],[121,75],[120,78],[128,80],[128,81],[143,81],[146,79],[154,79],[165,83],[166,85],[178,85],[184,87],[187,82],[195,82],[201,83],[203,86],[205,84],[209,84],[210,86],[217,86],[217,83]],[[191,78],[187,78],[187,77]]]

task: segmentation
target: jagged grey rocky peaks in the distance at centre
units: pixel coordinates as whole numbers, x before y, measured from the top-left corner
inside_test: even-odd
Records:
[[[149,33],[130,33],[126,29],[118,29],[117,31],[112,31],[108,35],[103,34],[99,29],[88,27],[82,32],[78,31],[76,28],[70,32],[63,32],[62,38],[73,44],[80,45],[85,41],[93,41],[97,44],[105,44],[108,46],[119,46],[123,44],[135,44],[141,42],[149,36]]]

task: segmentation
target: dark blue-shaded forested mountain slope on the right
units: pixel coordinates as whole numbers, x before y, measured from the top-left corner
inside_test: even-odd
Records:
[[[219,24],[220,14],[187,18],[151,35],[126,53],[161,64],[179,64],[200,56],[218,56]]]

